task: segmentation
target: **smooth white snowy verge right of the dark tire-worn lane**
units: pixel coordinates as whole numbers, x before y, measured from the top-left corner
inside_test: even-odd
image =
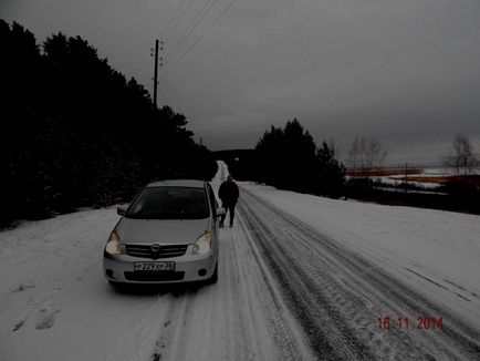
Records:
[[[328,199],[251,183],[243,188],[390,272],[404,274],[413,287],[453,302],[480,326],[479,216]]]

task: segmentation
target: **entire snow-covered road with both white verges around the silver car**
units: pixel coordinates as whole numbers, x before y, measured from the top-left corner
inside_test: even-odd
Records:
[[[122,293],[102,276],[117,219],[0,233],[0,360],[480,359],[477,216],[242,184],[217,285]],[[425,316],[442,329],[417,329]]]

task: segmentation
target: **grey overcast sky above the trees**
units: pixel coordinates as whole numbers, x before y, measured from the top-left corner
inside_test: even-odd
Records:
[[[253,147],[296,117],[342,157],[357,134],[379,140],[390,164],[438,162],[457,133],[480,152],[480,1],[233,0],[218,18],[230,3],[0,0],[0,17],[39,42],[81,35],[149,91],[150,48],[164,40],[158,102],[211,149]]]

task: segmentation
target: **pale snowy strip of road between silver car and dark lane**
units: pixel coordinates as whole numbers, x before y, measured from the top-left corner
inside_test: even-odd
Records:
[[[242,224],[241,215],[237,224]],[[312,360],[244,227],[222,229],[217,285],[167,293],[148,360]],[[168,305],[168,307],[165,307]]]

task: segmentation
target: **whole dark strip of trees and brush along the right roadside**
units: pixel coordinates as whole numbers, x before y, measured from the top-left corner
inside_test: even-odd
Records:
[[[356,138],[354,143],[367,142]],[[215,156],[228,164],[230,173],[238,180],[386,205],[480,214],[478,176],[451,177],[437,193],[415,192],[421,189],[410,189],[406,185],[392,189],[387,189],[385,185],[378,187],[373,178],[374,171],[379,168],[378,162],[374,162],[374,155],[384,157],[385,153],[376,142],[371,144],[375,145],[375,154],[364,155],[366,152],[362,148],[365,146],[353,152],[361,176],[351,176],[348,180],[345,179],[345,166],[335,157],[334,144],[322,142],[320,147],[316,146],[312,136],[296,120],[286,122],[284,127],[272,126],[264,132],[254,149],[220,151],[215,152]]]

